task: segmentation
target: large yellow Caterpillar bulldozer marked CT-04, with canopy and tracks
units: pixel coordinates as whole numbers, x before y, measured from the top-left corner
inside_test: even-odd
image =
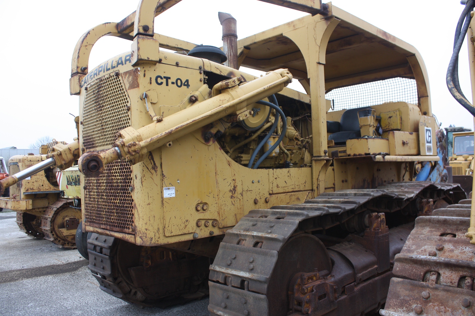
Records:
[[[438,156],[420,54],[321,1],[265,0],[309,15],[239,40],[219,12],[222,49],[155,33],[178,2],[85,32],[79,137],[0,191],[79,158],[88,267],[139,307],[209,295],[220,316],[377,312],[414,221],[466,199]],[[104,36],[131,51],[90,69]],[[425,162],[436,182],[415,181]]]

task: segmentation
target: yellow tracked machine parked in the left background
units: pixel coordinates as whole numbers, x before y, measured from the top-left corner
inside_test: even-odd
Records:
[[[9,159],[10,173],[35,168],[47,159],[53,146],[65,146],[55,139],[42,145],[40,154],[17,155]],[[76,249],[76,229],[81,220],[79,171],[47,168],[10,186],[10,194],[0,197],[0,207],[17,212],[17,224],[32,238],[47,239],[59,247]],[[64,176],[64,177],[63,177]],[[76,189],[77,191],[77,189]]]

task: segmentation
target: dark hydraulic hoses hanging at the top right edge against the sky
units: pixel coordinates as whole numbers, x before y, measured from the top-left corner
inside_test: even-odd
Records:
[[[464,42],[465,36],[467,34],[467,30],[470,26],[470,21],[472,17],[470,12],[474,9],[475,1],[468,0],[466,1],[465,8],[460,15],[460,18],[457,22],[457,27],[455,31],[455,38],[454,38],[454,50],[452,53],[452,57],[450,58],[450,62],[447,68],[447,88],[452,94],[452,96],[459,102],[470,114],[475,117],[475,107],[470,103],[465,95],[462,93],[462,89],[460,88],[459,80],[458,80],[458,54],[460,53],[460,48]],[[464,22],[465,21],[465,22]]]

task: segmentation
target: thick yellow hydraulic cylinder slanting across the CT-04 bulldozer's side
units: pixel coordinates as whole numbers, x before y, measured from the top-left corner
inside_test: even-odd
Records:
[[[136,164],[147,151],[225,116],[242,120],[241,115],[249,114],[245,113],[248,105],[280,92],[291,81],[292,74],[287,69],[278,69],[246,84],[239,85],[240,77],[220,82],[213,87],[213,92],[220,91],[220,94],[163,119],[155,117],[154,122],[138,130],[133,127],[121,130],[111,149],[83,154],[79,159],[79,171],[86,177],[98,177],[104,172],[104,165],[114,160],[121,158]],[[188,120],[183,121],[183,118]]]

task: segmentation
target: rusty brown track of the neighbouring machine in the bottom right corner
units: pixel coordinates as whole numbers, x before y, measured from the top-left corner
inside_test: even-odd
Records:
[[[471,200],[416,219],[396,256],[383,316],[475,315],[475,245],[465,237]]]

